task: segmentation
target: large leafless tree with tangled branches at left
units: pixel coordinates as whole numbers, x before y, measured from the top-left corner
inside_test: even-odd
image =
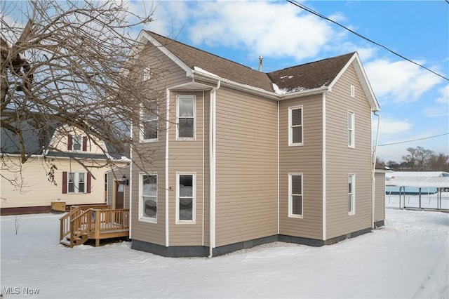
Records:
[[[18,140],[21,164],[48,150],[26,147],[24,122],[43,138],[67,124],[82,130],[93,142],[107,142],[117,151],[123,145],[141,150],[138,140],[130,137],[130,124],[139,123],[141,109],[154,109],[154,100],[160,95],[141,78],[129,74],[139,73],[133,72],[139,68],[143,72],[144,65],[133,56],[133,49],[140,46],[133,32],[152,22],[154,7],[139,15],[127,4],[0,4],[1,128]],[[151,153],[136,156],[152,159]],[[8,159],[11,157],[2,150],[2,178],[6,178],[3,170],[11,163]],[[53,180],[51,167],[51,163],[46,166],[46,173]],[[20,180],[6,179],[20,185]]]

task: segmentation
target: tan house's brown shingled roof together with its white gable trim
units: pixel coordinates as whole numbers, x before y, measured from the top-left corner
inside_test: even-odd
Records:
[[[264,73],[154,32],[144,30],[142,33],[140,40],[147,39],[152,44],[161,47],[161,51],[183,68],[187,67],[191,71],[206,71],[217,77],[260,88],[279,96],[315,88],[331,88],[342,71],[349,64],[354,63],[363,91],[366,93],[373,111],[379,110],[379,104],[356,52]]]

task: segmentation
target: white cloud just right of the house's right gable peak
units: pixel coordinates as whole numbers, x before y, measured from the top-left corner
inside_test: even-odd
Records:
[[[441,81],[434,74],[405,60],[391,62],[387,59],[377,59],[366,63],[365,69],[380,102],[416,101]]]

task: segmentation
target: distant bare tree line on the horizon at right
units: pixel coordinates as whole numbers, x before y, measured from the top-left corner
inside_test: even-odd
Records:
[[[449,156],[442,152],[436,154],[424,147],[408,147],[408,154],[403,155],[401,162],[382,159],[377,161],[394,171],[446,171],[449,172]]]

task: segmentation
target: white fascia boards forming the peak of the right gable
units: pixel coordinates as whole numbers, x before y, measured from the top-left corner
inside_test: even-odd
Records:
[[[363,69],[363,66],[361,64],[360,58],[358,57],[358,53],[354,53],[352,55],[351,59],[347,62],[346,65],[340,70],[340,72],[337,74],[335,79],[330,82],[329,88],[332,89],[333,86],[337,83],[338,80],[340,80],[340,77],[346,72],[349,65],[353,65],[354,69],[357,74],[357,78],[360,81],[360,84],[363,88],[363,92],[366,95],[366,98],[368,98],[368,102],[370,103],[371,111],[380,111],[379,102],[377,102],[377,99],[373,93],[373,88],[371,88],[370,81],[368,81],[368,77],[366,76],[366,72]]]

